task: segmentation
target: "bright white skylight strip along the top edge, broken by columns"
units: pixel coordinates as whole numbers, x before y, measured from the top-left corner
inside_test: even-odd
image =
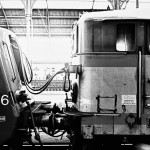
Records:
[[[22,1],[27,0],[0,0],[1,6],[4,9],[9,8],[24,8]],[[35,2],[33,8],[35,9],[106,9],[108,6],[112,8],[109,1],[113,0],[30,0]],[[121,0],[120,0],[121,1]],[[124,0],[122,0],[124,1]],[[149,8],[149,0],[138,0],[140,8]],[[136,8],[136,0],[129,0],[126,9]]]

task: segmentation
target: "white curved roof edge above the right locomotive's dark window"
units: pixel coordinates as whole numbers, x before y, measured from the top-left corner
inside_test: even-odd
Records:
[[[85,13],[81,16],[80,21],[86,20],[150,20],[150,10],[134,9],[134,10],[113,10]]]

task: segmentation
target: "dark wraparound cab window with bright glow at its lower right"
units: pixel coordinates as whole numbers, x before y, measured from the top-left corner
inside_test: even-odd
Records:
[[[135,24],[112,21],[85,22],[84,52],[115,52],[135,50]]]

